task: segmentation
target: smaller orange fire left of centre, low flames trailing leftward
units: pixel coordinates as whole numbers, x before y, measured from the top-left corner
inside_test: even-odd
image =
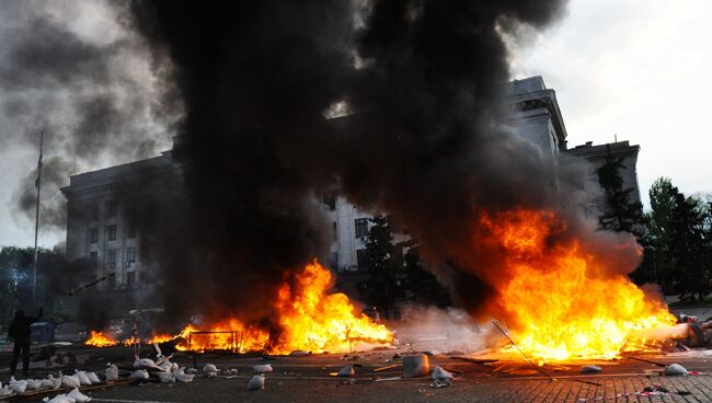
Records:
[[[359,313],[348,297],[329,293],[332,275],[319,262],[314,261],[289,276],[291,278],[279,287],[272,302],[277,312],[276,321],[283,330],[278,339],[271,339],[266,330],[249,326],[238,318],[228,318],[204,325],[190,324],[177,335],[153,335],[148,343],[180,336],[183,341],[176,347],[183,350],[288,354],[294,350],[341,353],[363,344],[383,345],[392,342],[393,334],[384,325],[374,323]]]

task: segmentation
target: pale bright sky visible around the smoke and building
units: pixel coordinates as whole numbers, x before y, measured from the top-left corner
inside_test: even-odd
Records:
[[[0,1],[3,24],[8,20],[22,23],[8,13],[16,9],[13,4]],[[99,45],[123,35],[101,3],[28,4],[35,9],[31,12],[49,13],[79,37]],[[513,50],[514,78],[541,74],[556,90],[570,146],[610,142],[616,134],[619,140],[641,145],[638,173],[645,200],[651,183],[663,175],[685,193],[709,193],[711,20],[712,2],[707,0],[572,0],[562,22]],[[9,35],[0,30],[0,60]],[[146,76],[139,58],[124,59],[122,65],[119,70],[131,71],[126,77],[142,77],[150,88],[152,78]],[[7,93],[0,93],[3,97]],[[34,222],[16,214],[14,197],[21,180],[36,164],[36,151],[27,148],[24,135],[31,116],[5,113],[0,118],[0,245],[28,245]],[[152,133],[160,137],[158,151],[166,145],[166,134],[156,127]],[[45,152],[49,156],[51,150]],[[100,158],[82,166],[97,169],[120,160]],[[57,188],[43,192],[56,193]],[[41,244],[50,246],[62,238],[61,231],[44,231]]]

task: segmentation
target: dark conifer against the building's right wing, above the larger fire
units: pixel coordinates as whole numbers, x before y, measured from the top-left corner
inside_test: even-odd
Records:
[[[601,228],[617,232],[631,232],[641,238],[643,205],[631,200],[633,188],[623,187],[623,177],[620,174],[622,169],[623,159],[616,158],[609,146],[605,163],[596,170],[598,183],[606,194],[606,207],[598,221]]]

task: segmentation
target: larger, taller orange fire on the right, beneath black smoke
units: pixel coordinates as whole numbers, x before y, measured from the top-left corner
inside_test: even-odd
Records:
[[[554,214],[513,210],[484,216],[491,246],[504,252],[507,279],[493,302],[517,345],[539,359],[613,358],[646,345],[645,331],[671,325],[664,304],[584,251],[555,239]],[[554,240],[555,239],[555,240]]]

